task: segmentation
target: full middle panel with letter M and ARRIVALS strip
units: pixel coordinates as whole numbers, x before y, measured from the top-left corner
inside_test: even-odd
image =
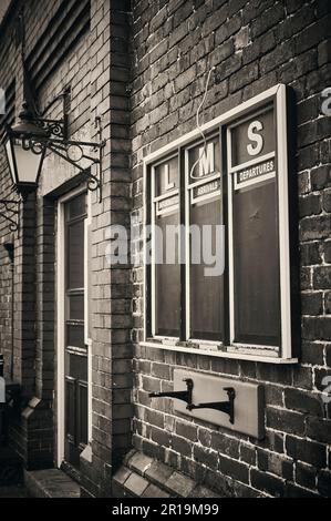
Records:
[[[224,245],[219,136],[209,137],[206,146],[199,143],[189,149],[187,160],[190,338],[221,340]]]

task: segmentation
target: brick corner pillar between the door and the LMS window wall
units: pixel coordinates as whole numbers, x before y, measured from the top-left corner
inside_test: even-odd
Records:
[[[83,496],[110,496],[111,476],[131,447],[131,272],[106,259],[110,226],[130,225],[127,11],[125,1],[97,1],[91,25],[91,109],[103,114],[106,147],[103,197],[92,205],[93,430],[91,462],[83,461]]]

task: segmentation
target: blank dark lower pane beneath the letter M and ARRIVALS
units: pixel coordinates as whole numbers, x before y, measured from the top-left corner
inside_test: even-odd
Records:
[[[220,200],[216,200],[209,203],[198,203],[192,207],[190,212],[192,225],[197,224],[197,229],[200,231],[200,247],[196,253],[199,254],[201,263],[190,264],[190,336],[196,339],[220,340],[224,330],[223,276],[216,273],[216,276],[205,274],[208,265],[204,263],[204,258],[208,259],[204,256],[207,253],[206,249],[203,251],[204,225],[213,225],[209,252],[213,256],[216,253],[216,233],[219,233],[220,229],[215,225],[219,225],[221,222],[220,206]],[[218,259],[218,262],[221,260]]]

